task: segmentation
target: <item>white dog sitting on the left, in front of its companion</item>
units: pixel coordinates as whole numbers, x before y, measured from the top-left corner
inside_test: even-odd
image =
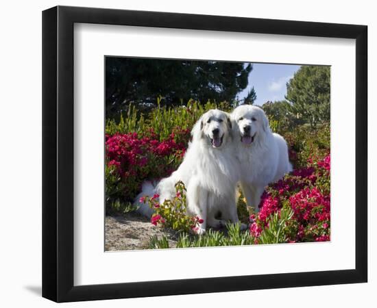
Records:
[[[191,131],[182,164],[170,177],[162,179],[156,188],[146,182],[143,192],[136,197],[138,211],[151,216],[153,210],[138,202],[141,196],[159,194],[159,202],[175,196],[175,183],[182,181],[186,187],[188,214],[199,216],[204,222],[197,231],[202,234],[206,225],[221,227],[227,220],[239,222],[236,212],[236,183],[239,181],[239,164],[234,155],[232,124],[229,114],[210,110],[203,114]],[[221,213],[221,220],[215,218]]]

